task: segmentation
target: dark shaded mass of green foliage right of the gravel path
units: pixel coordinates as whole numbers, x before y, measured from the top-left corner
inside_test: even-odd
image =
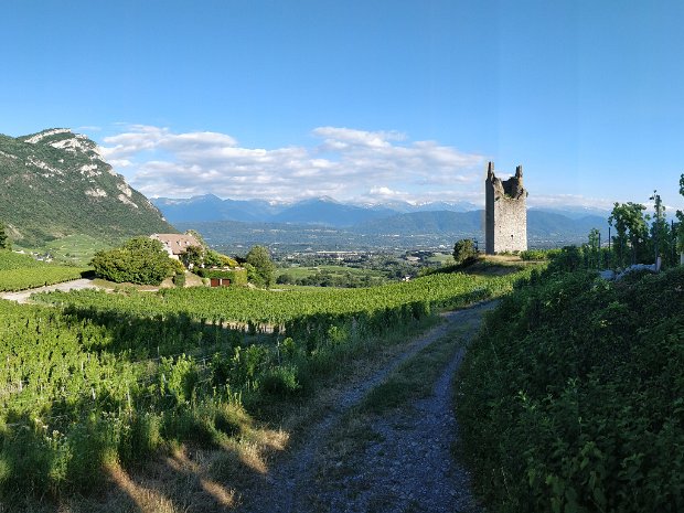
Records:
[[[683,289],[683,268],[579,270],[534,274],[502,300],[457,399],[489,511],[684,507]]]

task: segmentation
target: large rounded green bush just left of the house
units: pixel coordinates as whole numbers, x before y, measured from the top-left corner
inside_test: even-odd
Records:
[[[90,265],[98,277],[117,284],[159,285],[174,270],[162,244],[148,237],[135,237],[120,248],[98,252]]]

